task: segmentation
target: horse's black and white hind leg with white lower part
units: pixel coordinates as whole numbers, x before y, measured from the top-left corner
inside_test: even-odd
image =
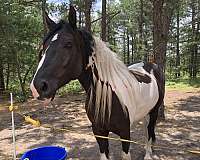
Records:
[[[158,108],[155,107],[151,110],[149,115],[147,115],[144,119],[144,131],[145,131],[145,160],[152,159],[152,144],[156,140],[155,136],[155,126],[156,126],[156,120],[158,116]]]

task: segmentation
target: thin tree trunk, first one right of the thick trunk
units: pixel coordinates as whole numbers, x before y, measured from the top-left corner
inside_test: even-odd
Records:
[[[180,77],[180,47],[179,47],[179,36],[180,36],[180,16],[179,16],[179,6],[177,8],[177,33],[176,33],[176,78]]]

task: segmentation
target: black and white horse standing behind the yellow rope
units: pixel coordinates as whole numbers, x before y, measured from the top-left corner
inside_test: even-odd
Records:
[[[130,140],[130,127],[144,119],[145,159],[151,159],[158,109],[163,101],[163,73],[156,64],[126,67],[103,41],[77,29],[71,6],[68,22],[53,22],[46,14],[49,33],[31,83],[33,96],[50,102],[56,91],[78,79],[87,93],[86,111],[95,135],[113,132]],[[107,139],[96,138],[100,159],[109,159]],[[130,160],[129,142],[122,142],[122,159]]]

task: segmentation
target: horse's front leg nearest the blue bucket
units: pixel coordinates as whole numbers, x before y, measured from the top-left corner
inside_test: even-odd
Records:
[[[96,127],[92,127],[94,135],[105,136],[107,137],[109,131],[104,129],[97,129]],[[96,137],[97,143],[99,144],[100,150],[100,160],[108,160],[109,159],[109,143],[108,139],[103,139]]]

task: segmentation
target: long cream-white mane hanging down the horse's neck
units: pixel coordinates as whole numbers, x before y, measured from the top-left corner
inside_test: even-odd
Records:
[[[89,57],[89,66],[92,68],[94,85],[91,85],[89,107],[95,92],[95,120],[105,121],[105,114],[108,112],[110,119],[112,109],[112,92],[114,92],[122,108],[127,114],[127,108],[134,101],[135,77],[130,73],[127,66],[118,58],[117,54],[111,51],[100,39],[94,37],[94,51]],[[95,75],[97,70],[98,76]],[[137,81],[137,80],[136,80]],[[107,110],[106,110],[106,107]],[[108,119],[108,120],[109,120]]]

